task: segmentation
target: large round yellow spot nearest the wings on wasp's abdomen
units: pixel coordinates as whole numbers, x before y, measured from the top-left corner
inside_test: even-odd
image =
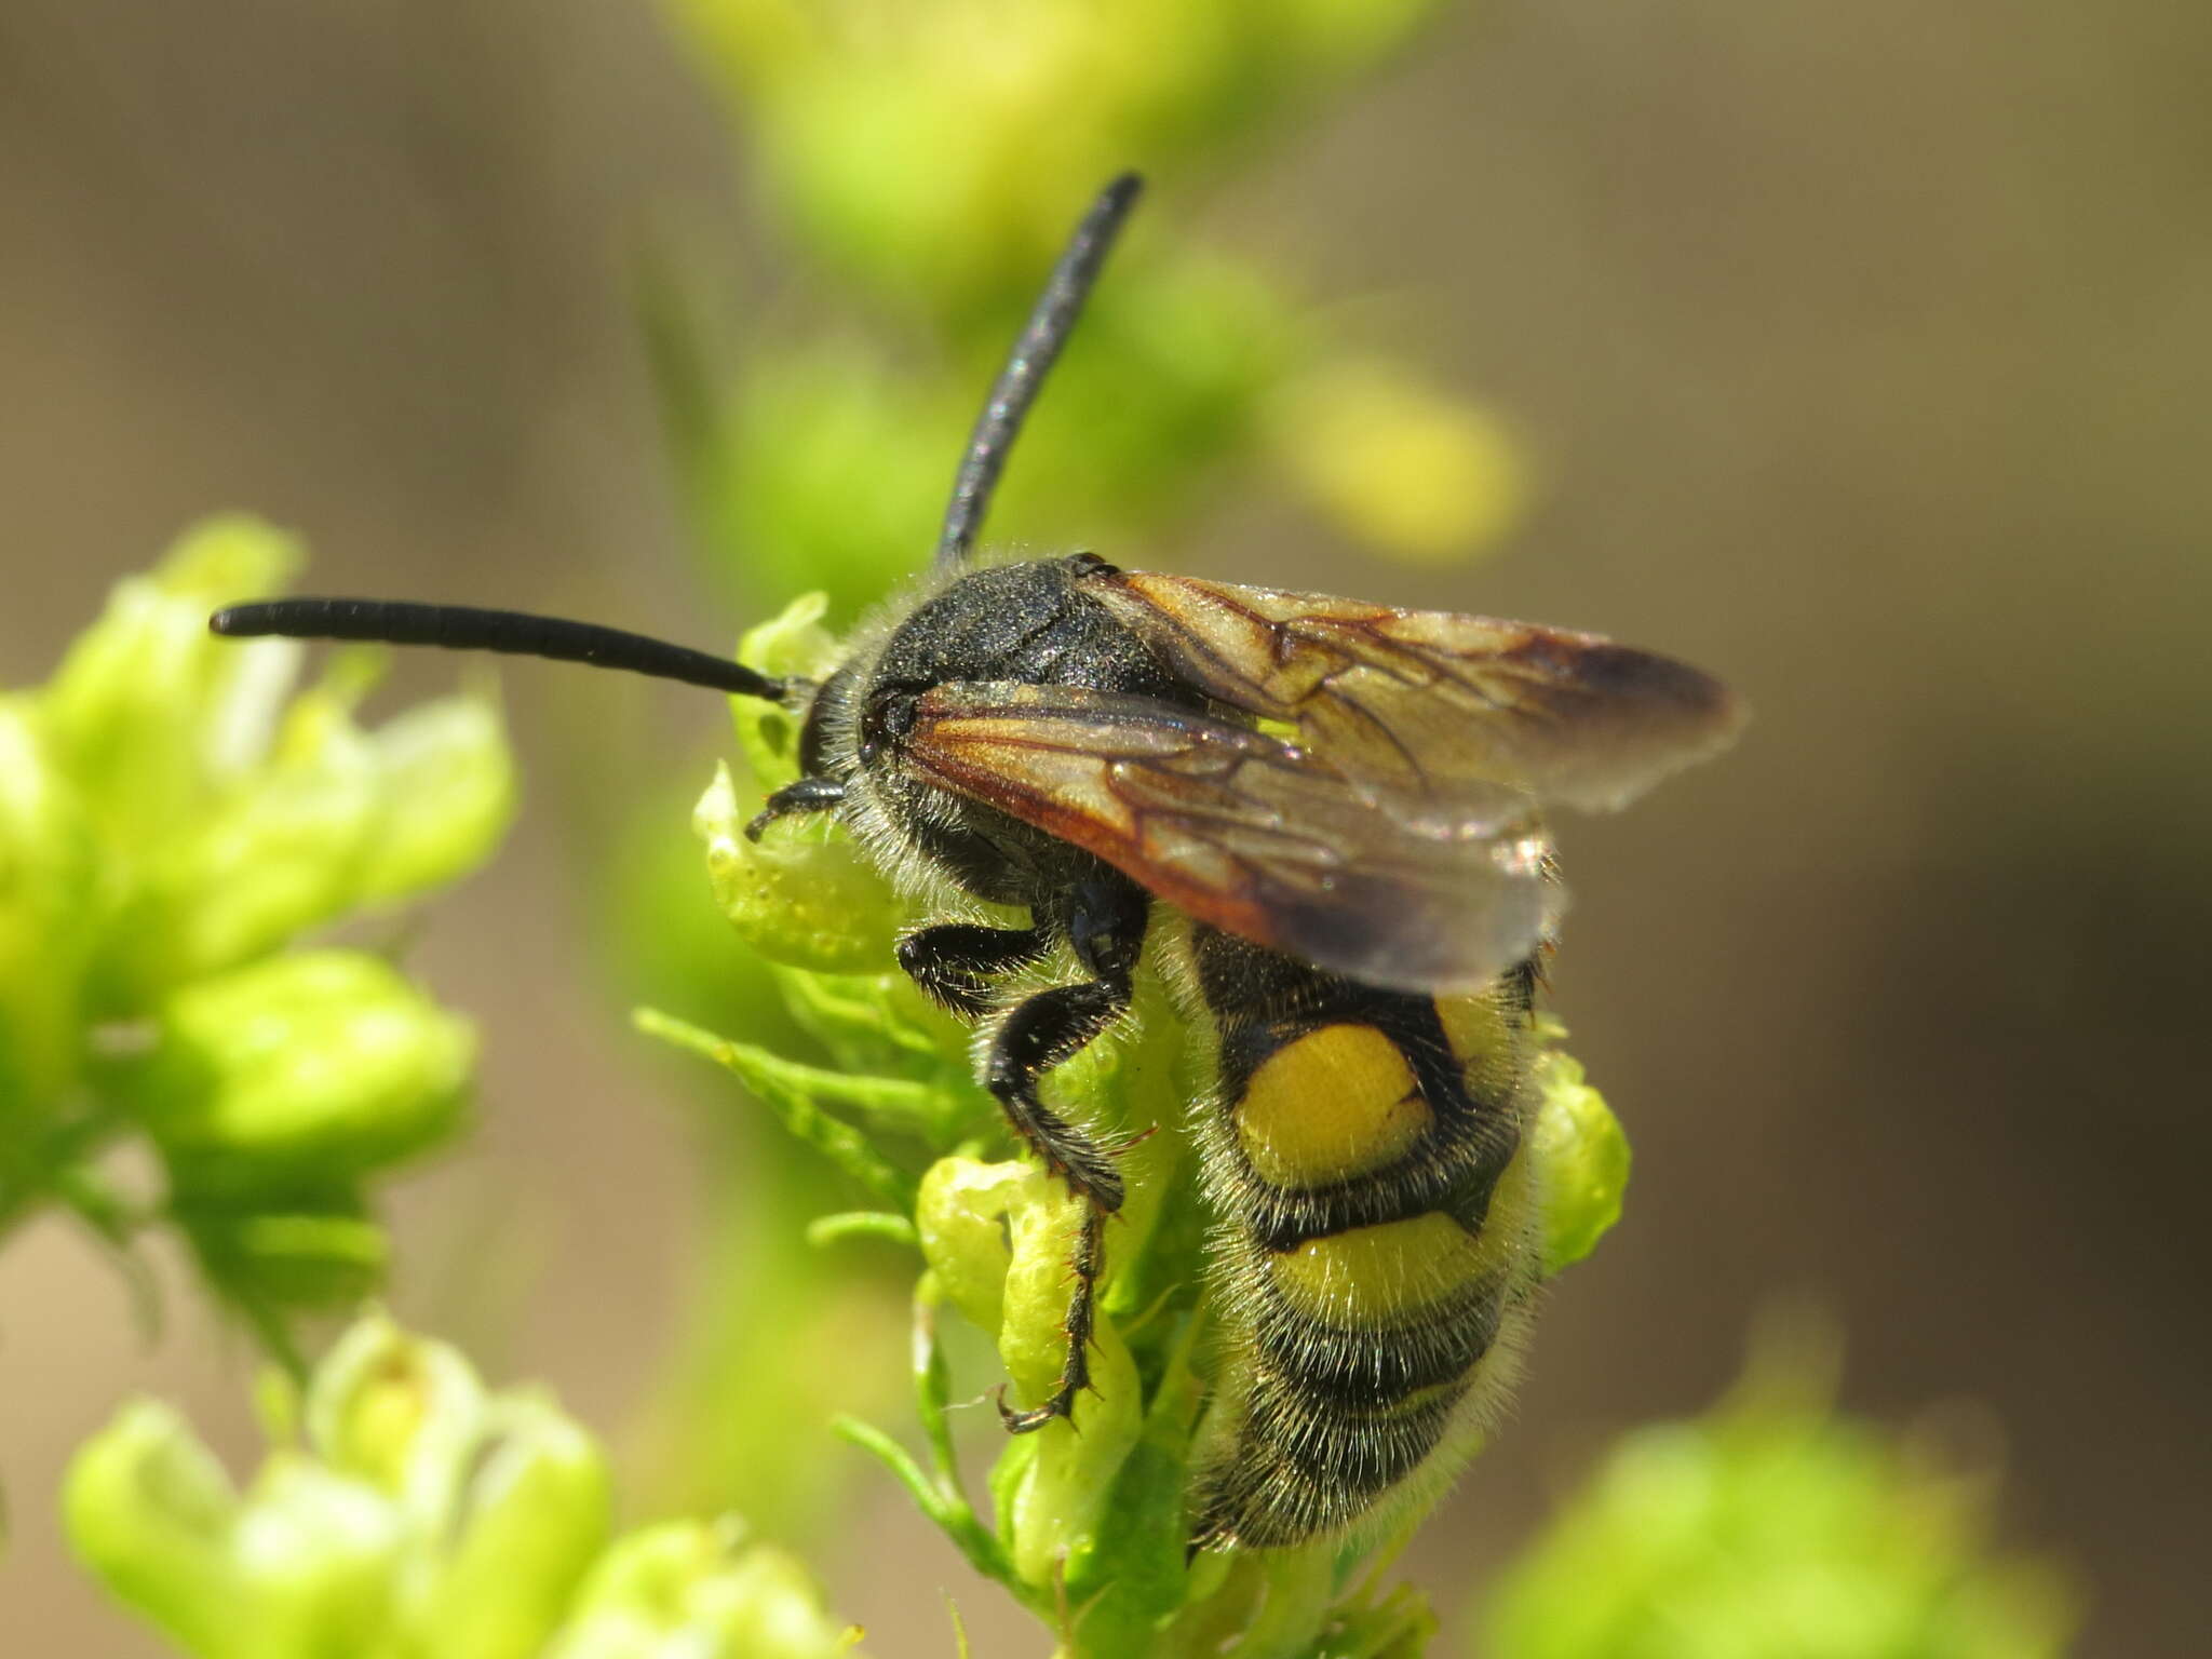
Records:
[[[1314,1188],[1402,1159],[1429,1102],[1374,1026],[1321,1026],[1267,1055],[1237,1102],[1237,1137],[1270,1186]]]

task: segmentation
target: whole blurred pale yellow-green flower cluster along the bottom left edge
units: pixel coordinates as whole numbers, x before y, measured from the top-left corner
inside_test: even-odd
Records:
[[[305,1394],[270,1376],[263,1416],[246,1491],[150,1400],[69,1471],[77,1555],[195,1659],[830,1659],[858,1639],[734,1522],[615,1537],[582,1427],[383,1316]]]

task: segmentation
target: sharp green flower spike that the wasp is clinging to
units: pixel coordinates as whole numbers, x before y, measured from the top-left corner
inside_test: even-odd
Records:
[[[821,672],[834,648],[818,617],[821,599],[801,599],[754,630],[741,659],[763,672]],[[774,790],[796,765],[790,714],[741,701],[737,719],[752,787]],[[1009,1405],[1033,1405],[1060,1374],[1079,1206],[1029,1159],[991,1155],[1009,1135],[971,1082],[967,1029],[922,1004],[891,967],[889,945],[911,907],[834,827],[785,823],[754,845],[741,834],[745,812],[730,774],[719,772],[697,814],[714,896],[737,931],[779,964],[790,1013],[830,1064],[666,1015],[641,1015],[641,1024],[732,1071],[876,1206],[827,1217],[814,1230],[823,1241],[869,1232],[920,1248],[914,1387],[925,1455],[863,1422],[843,1422],[845,1438],[907,1486],[978,1573],[1035,1610],[1066,1659],[1420,1652],[1436,1621],[1413,1590],[1385,1590],[1378,1568],[1363,1577],[1365,1544],[1186,1559],[1186,1493],[1219,1363],[1203,1296],[1206,1212],[1183,1137],[1188,1102],[1203,1095],[1206,1079],[1157,978],[1139,973],[1130,1018],[1046,1084],[1055,1110],[1106,1137],[1141,1139],[1121,1159],[1128,1203],[1106,1228],[1093,1391],[1077,1398],[1073,1422],[1009,1440],[987,1398],[1004,1378]],[[838,905],[852,907],[856,933],[880,956],[869,960],[838,940]],[[1546,1272],[1597,1245],[1619,1217],[1628,1179],[1619,1124],[1555,1046],[1562,1035],[1548,1022],[1540,1031],[1531,1128],[1535,1177],[1548,1194]],[[947,1349],[958,1334],[940,1332],[945,1314],[995,1345],[987,1360],[960,1367],[973,1371],[967,1389],[951,1380],[956,1356]],[[958,1422],[975,1425],[998,1451],[989,1517],[962,1486]],[[1418,1520],[1400,1517],[1400,1531]]]

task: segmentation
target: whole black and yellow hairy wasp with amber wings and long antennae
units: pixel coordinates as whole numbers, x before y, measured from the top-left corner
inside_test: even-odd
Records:
[[[1564,905],[1546,807],[1613,810],[1723,748],[1730,692],[1668,657],[1524,622],[1124,571],[984,562],[1022,422],[1139,192],[1106,186],[960,460],[925,584],[825,679],[595,624],[279,599],[221,635],[586,661],[770,699],[801,776],[748,827],[827,814],[894,883],[1024,927],[938,920],[898,964],[978,1022],[978,1075],[1082,1199],[1066,1360],[1015,1433],[1088,1385],[1115,1148],[1044,1079],[1130,1009],[1150,958],[1212,1055],[1190,1104],[1217,1214],[1225,1378],[1192,1546],[1338,1533],[1433,1489],[1526,1321],[1542,1194],[1540,956]],[[940,909],[942,914],[942,909]],[[1073,964],[1033,984],[1040,964]]]

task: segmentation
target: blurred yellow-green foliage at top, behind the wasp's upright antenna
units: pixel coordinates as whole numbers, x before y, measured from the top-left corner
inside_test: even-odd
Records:
[[[648,290],[706,551],[748,599],[827,588],[845,624],[922,564],[1006,341],[1088,192],[1126,166],[1166,201],[1115,254],[995,538],[1157,564],[1254,469],[1383,553],[1453,557],[1513,520],[1520,467],[1495,418],[1338,338],[1172,212],[1371,73],[1438,0],[672,11],[796,265],[792,294],[750,301],[719,349],[677,283]]]

